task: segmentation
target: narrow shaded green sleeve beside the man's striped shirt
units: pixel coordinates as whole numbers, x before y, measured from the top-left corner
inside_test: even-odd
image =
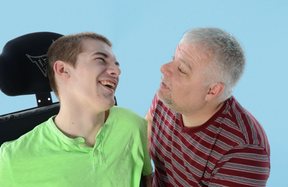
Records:
[[[143,153],[144,153],[144,164],[143,164],[143,169],[142,169],[142,174],[143,175],[150,175],[153,171],[153,167],[151,165],[151,160],[150,156],[148,153],[148,148],[147,148],[147,120],[144,120],[144,125],[143,125],[143,133],[141,133],[141,141],[142,141],[142,147],[143,147]]]

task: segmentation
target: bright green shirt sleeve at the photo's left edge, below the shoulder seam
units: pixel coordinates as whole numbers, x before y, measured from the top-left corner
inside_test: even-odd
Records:
[[[0,184],[4,184],[4,186],[15,186],[5,149],[6,145],[4,143],[0,148]]]

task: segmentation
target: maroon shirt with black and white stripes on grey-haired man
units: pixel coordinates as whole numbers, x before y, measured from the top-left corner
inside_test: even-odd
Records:
[[[260,123],[231,96],[207,122],[182,115],[155,95],[151,104],[153,186],[265,186],[270,148]]]

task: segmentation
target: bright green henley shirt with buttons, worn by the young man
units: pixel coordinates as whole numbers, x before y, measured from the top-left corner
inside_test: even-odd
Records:
[[[151,174],[147,121],[131,110],[112,107],[93,148],[53,118],[1,146],[1,186],[139,186]]]

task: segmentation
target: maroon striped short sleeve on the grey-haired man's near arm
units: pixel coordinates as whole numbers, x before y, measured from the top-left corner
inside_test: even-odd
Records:
[[[216,164],[208,186],[266,186],[270,159],[259,145],[239,145]]]

